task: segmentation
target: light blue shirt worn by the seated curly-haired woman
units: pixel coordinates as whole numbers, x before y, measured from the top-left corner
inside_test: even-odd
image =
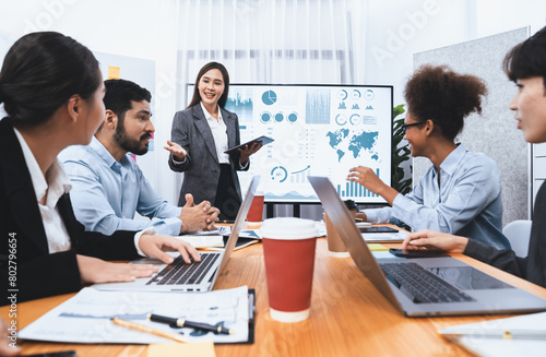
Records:
[[[413,192],[397,194],[392,207],[364,210],[368,222],[400,219],[415,230],[431,229],[510,249],[502,235],[502,201],[497,164],[463,144],[451,152],[438,171],[432,165]],[[394,219],[393,219],[394,218]]]

